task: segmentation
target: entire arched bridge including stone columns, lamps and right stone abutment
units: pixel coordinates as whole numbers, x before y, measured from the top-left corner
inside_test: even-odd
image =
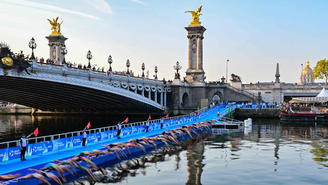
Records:
[[[200,24],[185,29],[188,38],[186,76],[181,80],[181,66],[177,62],[175,79],[170,83],[129,73],[117,74],[111,68],[108,72],[92,70],[90,51],[88,67],[68,67],[65,65],[65,40],[68,38],[61,33],[46,36],[50,62],[34,60],[33,50],[31,60],[24,60],[24,55],[13,55],[3,44],[0,47],[3,61],[0,61],[0,100],[50,112],[167,111],[174,114],[188,114],[211,102],[258,101],[256,93],[231,86],[224,80],[206,83],[202,42],[206,29]],[[34,42],[32,38],[31,45]],[[111,64],[110,58],[108,63]]]

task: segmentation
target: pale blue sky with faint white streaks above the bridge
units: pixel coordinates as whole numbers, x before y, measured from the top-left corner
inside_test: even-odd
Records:
[[[277,62],[280,79],[298,82],[301,64],[309,58],[313,68],[328,53],[328,1],[155,1],[155,0],[0,0],[0,41],[14,53],[30,53],[34,37],[38,58],[49,58],[47,19],[61,17],[67,37],[67,61],[113,70],[126,70],[129,59],[135,74],[145,63],[149,76],[158,67],[159,79],[174,79],[173,66],[187,67],[187,31],[190,14],[202,7],[203,68],[207,81],[231,73],[244,82],[274,81]],[[316,80],[318,81],[318,80]]]

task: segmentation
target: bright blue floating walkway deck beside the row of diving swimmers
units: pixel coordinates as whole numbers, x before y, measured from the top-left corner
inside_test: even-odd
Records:
[[[220,110],[220,112],[224,112],[225,110],[227,110],[227,108],[220,108],[219,110]],[[189,124],[196,123],[199,121],[204,121],[207,119],[212,120],[213,118],[216,118],[215,111],[212,113],[209,113],[206,116],[203,116],[202,118],[200,118],[196,121],[188,121],[188,122],[184,122],[179,125],[180,126],[181,125],[189,125]],[[180,128],[179,125],[173,125],[173,126],[169,126],[169,127],[163,128],[163,129],[155,129],[155,130],[149,131],[148,133],[142,132],[142,133],[130,134],[127,136],[122,136],[122,138],[120,140],[118,140],[117,138],[111,138],[108,140],[103,140],[101,142],[90,143],[86,147],[77,146],[74,148],[62,149],[60,151],[51,151],[51,152],[47,152],[47,153],[40,154],[40,155],[28,156],[26,158],[27,161],[20,161],[20,159],[13,159],[13,160],[9,160],[9,161],[0,162],[0,175],[20,174],[20,177],[25,176],[27,174],[34,173],[33,171],[28,170],[29,168],[40,169],[40,168],[44,167],[44,165],[46,163],[51,162],[52,160],[65,160],[68,158],[72,158],[72,157],[76,156],[77,154],[80,154],[81,152],[84,152],[84,151],[104,149],[104,147],[102,146],[103,144],[110,144],[110,143],[117,143],[117,142],[124,143],[124,142],[128,142],[131,138],[136,139],[136,138],[140,138],[140,137],[157,135],[157,134],[163,132],[164,130],[166,130],[167,128],[168,129]],[[131,151],[131,152],[135,153],[138,151]],[[117,160],[116,155],[106,155],[106,156],[107,156],[106,159],[101,159],[101,158],[97,159],[97,160],[99,160],[97,163],[101,164],[101,163],[109,162],[111,160]],[[110,158],[113,158],[113,159],[110,159]],[[93,159],[93,161],[94,161],[94,159]],[[48,180],[50,181],[50,179],[48,179]],[[6,184],[39,184],[39,183],[41,183],[39,180],[37,180],[35,178],[30,178],[28,180],[20,180],[20,181],[16,181],[14,179],[14,180],[0,181],[0,182],[6,183]]]

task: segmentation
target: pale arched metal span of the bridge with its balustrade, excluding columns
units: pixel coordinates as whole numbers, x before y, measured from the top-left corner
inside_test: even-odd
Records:
[[[0,100],[43,111],[163,111],[166,82],[31,61],[26,72],[0,68]]]

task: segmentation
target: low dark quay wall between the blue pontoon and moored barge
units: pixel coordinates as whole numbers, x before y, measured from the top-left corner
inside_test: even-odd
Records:
[[[235,117],[279,118],[279,109],[236,109]]]

